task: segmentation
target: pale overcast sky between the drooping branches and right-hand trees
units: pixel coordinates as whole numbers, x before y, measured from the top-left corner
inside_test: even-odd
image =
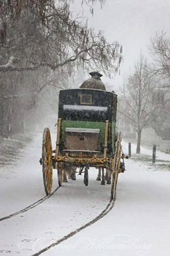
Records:
[[[103,77],[103,82],[112,88],[123,83],[124,73],[128,74],[129,69],[133,69],[140,51],[149,56],[150,38],[156,31],[164,29],[167,36],[170,34],[170,0],[106,0],[102,9],[100,4],[94,6],[93,17],[87,6],[83,9],[90,27],[96,31],[103,30],[107,41],[119,41],[123,45],[121,75],[116,75],[114,80]],[[74,15],[80,10],[81,0],[74,0]]]

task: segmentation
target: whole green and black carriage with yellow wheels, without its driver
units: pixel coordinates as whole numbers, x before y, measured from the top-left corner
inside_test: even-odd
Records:
[[[52,170],[58,170],[62,185],[65,167],[80,168],[85,185],[90,167],[106,169],[111,198],[116,193],[118,174],[123,172],[121,134],[116,132],[117,95],[100,89],[59,91],[56,148],[52,150],[50,130],[43,133],[43,181],[46,194],[52,189]]]

